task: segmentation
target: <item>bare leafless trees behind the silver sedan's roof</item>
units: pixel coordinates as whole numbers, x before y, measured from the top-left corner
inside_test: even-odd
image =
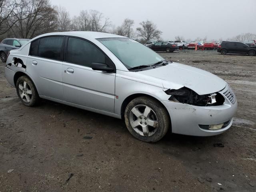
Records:
[[[134,20],[124,19],[115,26],[97,10],[81,10],[70,17],[66,8],[54,6],[49,0],[0,0],[0,40],[6,37],[33,38],[48,32],[97,31],[110,32],[144,40],[159,39],[162,32],[149,20],[134,30]]]

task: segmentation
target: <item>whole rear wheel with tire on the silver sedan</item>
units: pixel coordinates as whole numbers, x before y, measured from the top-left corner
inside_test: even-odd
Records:
[[[20,76],[18,78],[16,91],[25,106],[32,107],[40,101],[36,86],[28,76]]]

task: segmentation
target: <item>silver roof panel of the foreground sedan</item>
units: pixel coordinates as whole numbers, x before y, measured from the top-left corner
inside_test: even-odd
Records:
[[[64,36],[76,36],[85,39],[99,39],[99,38],[127,38],[120,35],[104,33],[104,32],[92,32],[92,31],[69,31],[69,32],[53,32],[53,33],[46,33],[40,36],[35,37],[34,39],[44,37],[44,36],[52,36],[52,35],[64,35]],[[33,39],[33,40],[34,40]]]

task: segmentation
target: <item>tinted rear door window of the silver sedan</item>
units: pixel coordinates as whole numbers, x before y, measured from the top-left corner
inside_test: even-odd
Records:
[[[38,56],[53,60],[63,60],[65,38],[52,36],[40,38],[38,45]]]

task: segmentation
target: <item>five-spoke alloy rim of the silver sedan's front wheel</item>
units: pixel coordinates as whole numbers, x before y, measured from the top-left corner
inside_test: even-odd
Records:
[[[156,113],[146,105],[137,105],[132,108],[129,121],[134,131],[141,136],[152,136],[158,129]]]

